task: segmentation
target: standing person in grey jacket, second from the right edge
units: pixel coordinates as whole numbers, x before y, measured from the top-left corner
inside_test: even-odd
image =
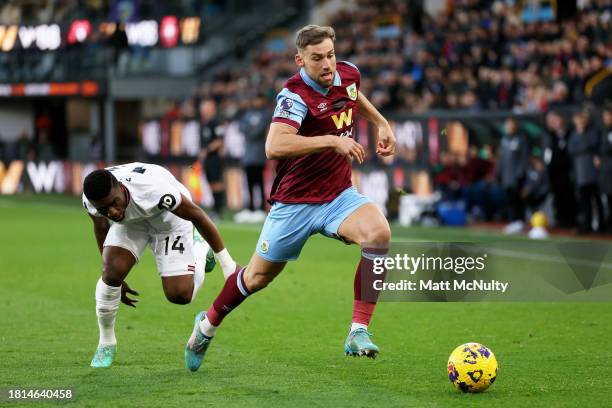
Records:
[[[603,205],[599,193],[599,174],[595,167],[601,145],[597,131],[590,126],[590,114],[586,109],[573,115],[574,132],[569,141],[569,153],[574,162],[578,205],[580,209],[579,233],[593,231],[593,202],[597,208],[599,227],[603,223]]]

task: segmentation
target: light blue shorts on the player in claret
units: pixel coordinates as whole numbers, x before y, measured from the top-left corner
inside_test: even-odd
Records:
[[[311,235],[320,232],[340,239],[340,224],[369,202],[370,199],[358,193],[355,187],[349,187],[329,203],[274,203],[261,230],[257,253],[270,262],[293,261]]]

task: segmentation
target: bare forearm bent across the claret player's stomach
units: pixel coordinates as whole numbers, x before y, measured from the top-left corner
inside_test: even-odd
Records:
[[[304,137],[297,134],[296,128],[283,123],[272,123],[266,138],[266,156],[270,160],[299,157],[329,149],[359,163],[362,163],[365,157],[363,146],[349,137]]]

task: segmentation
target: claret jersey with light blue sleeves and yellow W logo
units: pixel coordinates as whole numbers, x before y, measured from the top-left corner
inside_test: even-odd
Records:
[[[350,62],[336,65],[327,89],[304,68],[289,78],[277,96],[273,123],[284,123],[300,136],[353,137],[361,75]],[[279,161],[270,200],[281,203],[327,203],[351,186],[351,165],[331,150]]]

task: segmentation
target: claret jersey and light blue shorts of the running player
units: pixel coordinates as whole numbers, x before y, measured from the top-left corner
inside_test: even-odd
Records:
[[[353,137],[360,74],[348,62],[336,65],[334,84],[323,88],[302,69],[278,94],[272,122],[300,136]],[[270,262],[295,260],[316,233],[339,238],[342,222],[369,202],[351,183],[351,165],[330,150],[279,160],[270,200],[274,203],[257,243]]]

